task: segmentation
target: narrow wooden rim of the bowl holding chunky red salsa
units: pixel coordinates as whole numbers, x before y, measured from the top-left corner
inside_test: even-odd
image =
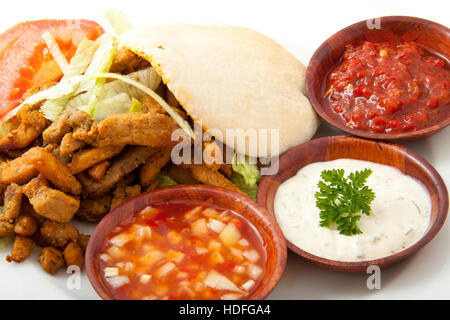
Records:
[[[423,19],[423,18],[418,18],[418,17],[413,17],[413,16],[401,16],[401,15],[395,15],[395,16],[382,16],[379,17],[381,19],[381,23],[384,22],[394,22],[394,21],[400,21],[400,22],[414,22],[414,23],[419,23],[419,24],[428,24],[428,25],[433,25],[439,28],[444,28],[447,29],[447,32],[450,34],[450,29],[447,28],[446,26],[431,21],[431,20],[427,20],[427,19]],[[367,21],[371,20],[371,19],[366,19],[366,20],[362,20],[356,23],[353,23],[339,31],[337,31],[336,33],[334,33],[333,35],[331,35],[330,37],[328,37],[317,49],[316,51],[314,51],[313,55],[311,56],[311,59],[309,61],[309,64],[306,68],[306,92],[308,94],[308,98],[311,102],[311,105],[313,106],[314,110],[316,111],[316,113],[323,119],[325,120],[327,123],[329,123],[330,125],[332,125],[333,127],[358,136],[358,137],[362,137],[362,138],[366,138],[366,139],[373,139],[373,140],[386,140],[386,141],[392,141],[392,140],[401,140],[401,139],[405,139],[405,140],[409,140],[409,139],[418,139],[421,137],[427,137],[429,135],[435,134],[437,133],[439,130],[445,128],[446,126],[448,126],[450,124],[450,118],[447,119],[443,119],[442,121],[435,123],[429,127],[425,127],[422,128],[420,130],[416,130],[416,131],[409,131],[409,132],[400,132],[400,133],[394,133],[394,134],[388,134],[388,133],[375,133],[375,132],[370,132],[370,131],[365,131],[365,130],[360,130],[360,129],[354,129],[354,128],[350,128],[347,127],[344,123],[340,122],[338,119],[336,119],[335,117],[333,117],[331,115],[330,111],[327,111],[326,106],[322,106],[319,97],[317,97],[317,95],[315,94],[315,88],[314,88],[314,82],[312,81],[313,79],[313,75],[314,75],[314,70],[317,68],[318,65],[320,65],[321,61],[319,61],[318,59],[318,55],[325,50],[328,47],[328,42],[333,39],[334,37],[336,37],[339,34],[342,33],[346,33],[346,31],[348,30],[353,30],[355,28],[360,28],[363,25],[365,26]],[[366,28],[367,29],[367,28]],[[447,57],[450,58],[450,57]],[[336,66],[337,64],[335,64]],[[331,72],[331,70],[327,70],[326,71],[326,76],[328,77],[329,73]],[[326,81],[326,80],[325,80]],[[321,82],[323,83],[323,82]],[[322,88],[321,88],[322,89]]]

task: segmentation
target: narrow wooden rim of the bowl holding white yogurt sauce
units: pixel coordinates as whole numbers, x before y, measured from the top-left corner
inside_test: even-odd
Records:
[[[333,260],[333,259],[322,258],[322,257],[311,254],[311,253],[299,248],[298,246],[293,244],[291,241],[286,239],[287,246],[290,250],[292,250],[294,253],[298,254],[300,257],[308,260],[309,262],[312,262],[313,264],[316,264],[318,266],[330,269],[332,271],[358,273],[358,272],[362,272],[362,270],[366,270],[367,267],[369,267],[371,265],[376,265],[376,266],[379,266],[381,269],[383,269],[383,268],[387,268],[395,263],[398,263],[401,260],[407,258],[408,256],[414,254],[422,247],[424,247],[438,234],[438,232],[444,226],[445,220],[448,215],[448,209],[449,209],[449,195],[448,195],[448,191],[447,191],[445,182],[442,179],[442,177],[439,175],[437,170],[425,158],[423,158],[418,153],[416,153],[406,147],[403,147],[401,145],[397,145],[392,142],[372,141],[372,140],[362,139],[362,138],[358,138],[358,137],[354,137],[354,136],[346,136],[346,135],[317,138],[317,139],[308,141],[306,143],[300,144],[300,145],[288,150],[283,155],[281,155],[280,159],[278,160],[279,161],[279,171],[276,175],[279,175],[281,173],[281,171],[283,170],[283,168],[285,168],[285,166],[283,166],[283,163],[286,162],[286,159],[291,157],[291,155],[296,154],[296,152],[298,152],[298,149],[301,150],[303,148],[306,148],[308,146],[308,144],[325,143],[332,139],[334,140],[333,143],[348,142],[350,146],[352,145],[352,143],[351,143],[352,141],[363,140],[367,143],[383,145],[383,147],[389,148],[397,153],[399,153],[399,152],[403,153],[405,155],[405,157],[408,157],[408,158],[414,160],[414,162],[417,165],[420,165],[425,169],[424,170],[425,173],[430,177],[431,181],[433,181],[433,183],[437,186],[437,188],[436,188],[438,190],[437,196],[442,201],[442,208],[441,208],[441,210],[438,211],[437,217],[436,217],[436,220],[434,221],[434,223],[429,226],[427,231],[422,235],[422,237],[416,243],[414,243],[410,247],[403,249],[402,251],[399,251],[397,253],[394,253],[392,255],[385,256],[385,257],[382,257],[379,259],[348,262],[348,261],[338,261],[338,260]],[[298,156],[297,156],[297,158],[298,158]],[[339,159],[341,159],[341,158],[339,158]],[[328,160],[326,160],[326,161],[328,161]],[[313,162],[308,162],[308,164],[310,164],[310,163],[313,163]],[[292,176],[287,179],[290,179],[290,178],[292,178]],[[271,180],[272,179],[270,176],[264,176],[261,179],[259,187],[261,187],[261,186],[264,187],[266,184],[270,185]],[[281,185],[281,183],[280,183],[280,185]],[[261,189],[258,188],[258,193],[257,193],[257,201],[258,201],[258,203],[260,203],[263,206],[265,206],[266,199],[265,199],[265,194],[263,194],[262,192],[265,189],[266,188],[261,188]],[[278,190],[278,188],[277,188],[277,190]],[[428,188],[427,188],[427,191],[429,192]],[[261,200],[262,198],[264,198],[264,202],[263,202],[263,200]],[[272,214],[272,212],[270,212],[269,210],[267,210],[267,211],[274,217],[275,221],[277,221],[275,213]],[[278,221],[277,221],[277,223],[278,223]]]

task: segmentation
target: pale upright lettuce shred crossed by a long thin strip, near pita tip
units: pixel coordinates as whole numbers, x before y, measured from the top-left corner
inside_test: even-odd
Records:
[[[91,64],[86,70],[86,75],[107,72],[111,67],[116,52],[115,38],[109,33],[103,34],[99,38],[99,47],[92,58]],[[97,104],[98,97],[105,84],[105,78],[95,79],[94,86],[89,90],[89,102],[87,112],[92,116],[95,114],[95,105]]]

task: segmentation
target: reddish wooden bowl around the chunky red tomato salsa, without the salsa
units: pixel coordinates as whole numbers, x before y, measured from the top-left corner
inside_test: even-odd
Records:
[[[377,140],[418,140],[437,133],[450,123],[450,118],[417,131],[395,134],[373,133],[349,128],[329,107],[324,96],[328,75],[341,63],[347,44],[364,41],[414,41],[444,60],[450,58],[450,29],[438,23],[414,17],[382,17],[380,29],[369,29],[367,21],[355,23],[328,38],[314,53],[306,70],[306,89],[312,106],[322,119],[352,135]]]

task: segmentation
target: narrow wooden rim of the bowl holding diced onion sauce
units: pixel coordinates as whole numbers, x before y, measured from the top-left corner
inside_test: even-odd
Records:
[[[198,192],[198,191],[203,192],[203,193],[206,192],[212,198],[214,198],[215,195],[217,196],[220,194],[220,195],[225,195],[230,201],[244,202],[246,205],[248,205],[249,207],[251,207],[253,209],[253,211],[255,212],[254,214],[257,215],[258,218],[260,219],[260,221],[263,222],[262,228],[259,228],[252,221],[252,219],[248,218],[246,215],[246,212],[237,212],[237,213],[239,213],[244,219],[246,219],[249,223],[251,223],[251,225],[257,230],[258,233],[260,233],[260,234],[268,233],[270,237],[273,237],[274,239],[278,238],[280,240],[280,241],[274,241],[274,248],[275,248],[274,252],[276,254],[275,254],[275,259],[274,259],[273,263],[275,265],[277,265],[278,268],[274,268],[274,271],[272,272],[272,274],[270,274],[269,277],[267,278],[268,279],[267,283],[264,286],[258,287],[257,290],[255,290],[248,299],[262,300],[262,299],[266,298],[273,291],[273,289],[275,289],[278,282],[280,281],[280,279],[284,273],[284,269],[286,267],[286,262],[287,262],[287,244],[286,244],[283,232],[281,231],[281,228],[278,226],[278,223],[276,223],[275,218],[267,211],[266,208],[264,208],[263,206],[258,204],[253,199],[251,199],[243,194],[240,194],[238,192],[230,191],[230,190],[215,187],[215,186],[183,185],[183,184],[175,185],[175,186],[161,187],[161,188],[158,188],[155,190],[143,192],[133,198],[130,198],[127,201],[121,203],[116,208],[114,208],[112,211],[110,211],[97,224],[97,226],[95,227],[94,231],[92,232],[91,237],[88,242],[88,246],[86,249],[86,263],[85,263],[86,264],[86,273],[88,275],[89,282],[91,283],[91,285],[94,288],[94,290],[96,291],[96,293],[100,296],[100,298],[102,298],[104,300],[115,300],[114,296],[105,288],[103,283],[101,281],[99,281],[101,276],[97,274],[97,268],[96,268],[96,264],[95,264],[96,252],[94,252],[94,249],[93,249],[94,241],[92,239],[99,238],[101,236],[100,231],[106,230],[106,228],[103,226],[108,225],[108,223],[110,223],[110,221],[113,221],[114,216],[120,215],[120,213],[122,212],[122,209],[124,207],[127,207],[128,203],[130,201],[134,201],[138,198],[152,197],[152,196],[155,196],[158,194],[170,194],[170,193],[174,192],[175,190],[178,190],[181,188],[184,190],[187,190],[187,192],[194,192],[194,194],[195,194],[195,192]],[[173,198],[173,199],[169,200],[168,202],[180,201],[180,200],[181,201],[186,200],[186,198],[180,198],[180,199]],[[189,199],[187,199],[187,200],[189,200]],[[152,203],[152,201],[149,201],[146,206],[151,205],[151,203]],[[161,201],[157,200],[154,203],[161,203]],[[120,221],[123,221],[129,215],[131,215],[139,210],[142,210],[142,209],[143,208],[134,207],[134,211],[122,213],[123,216]],[[224,208],[224,209],[226,209],[226,208]],[[111,224],[109,231],[114,226],[116,226],[118,223],[120,223],[120,221],[118,221],[117,223]],[[263,230],[261,230],[261,229],[263,229]],[[108,234],[108,232],[105,232],[105,237]],[[102,241],[103,240],[104,240],[104,237],[103,237]],[[268,261],[269,261],[269,259],[268,259]]]

